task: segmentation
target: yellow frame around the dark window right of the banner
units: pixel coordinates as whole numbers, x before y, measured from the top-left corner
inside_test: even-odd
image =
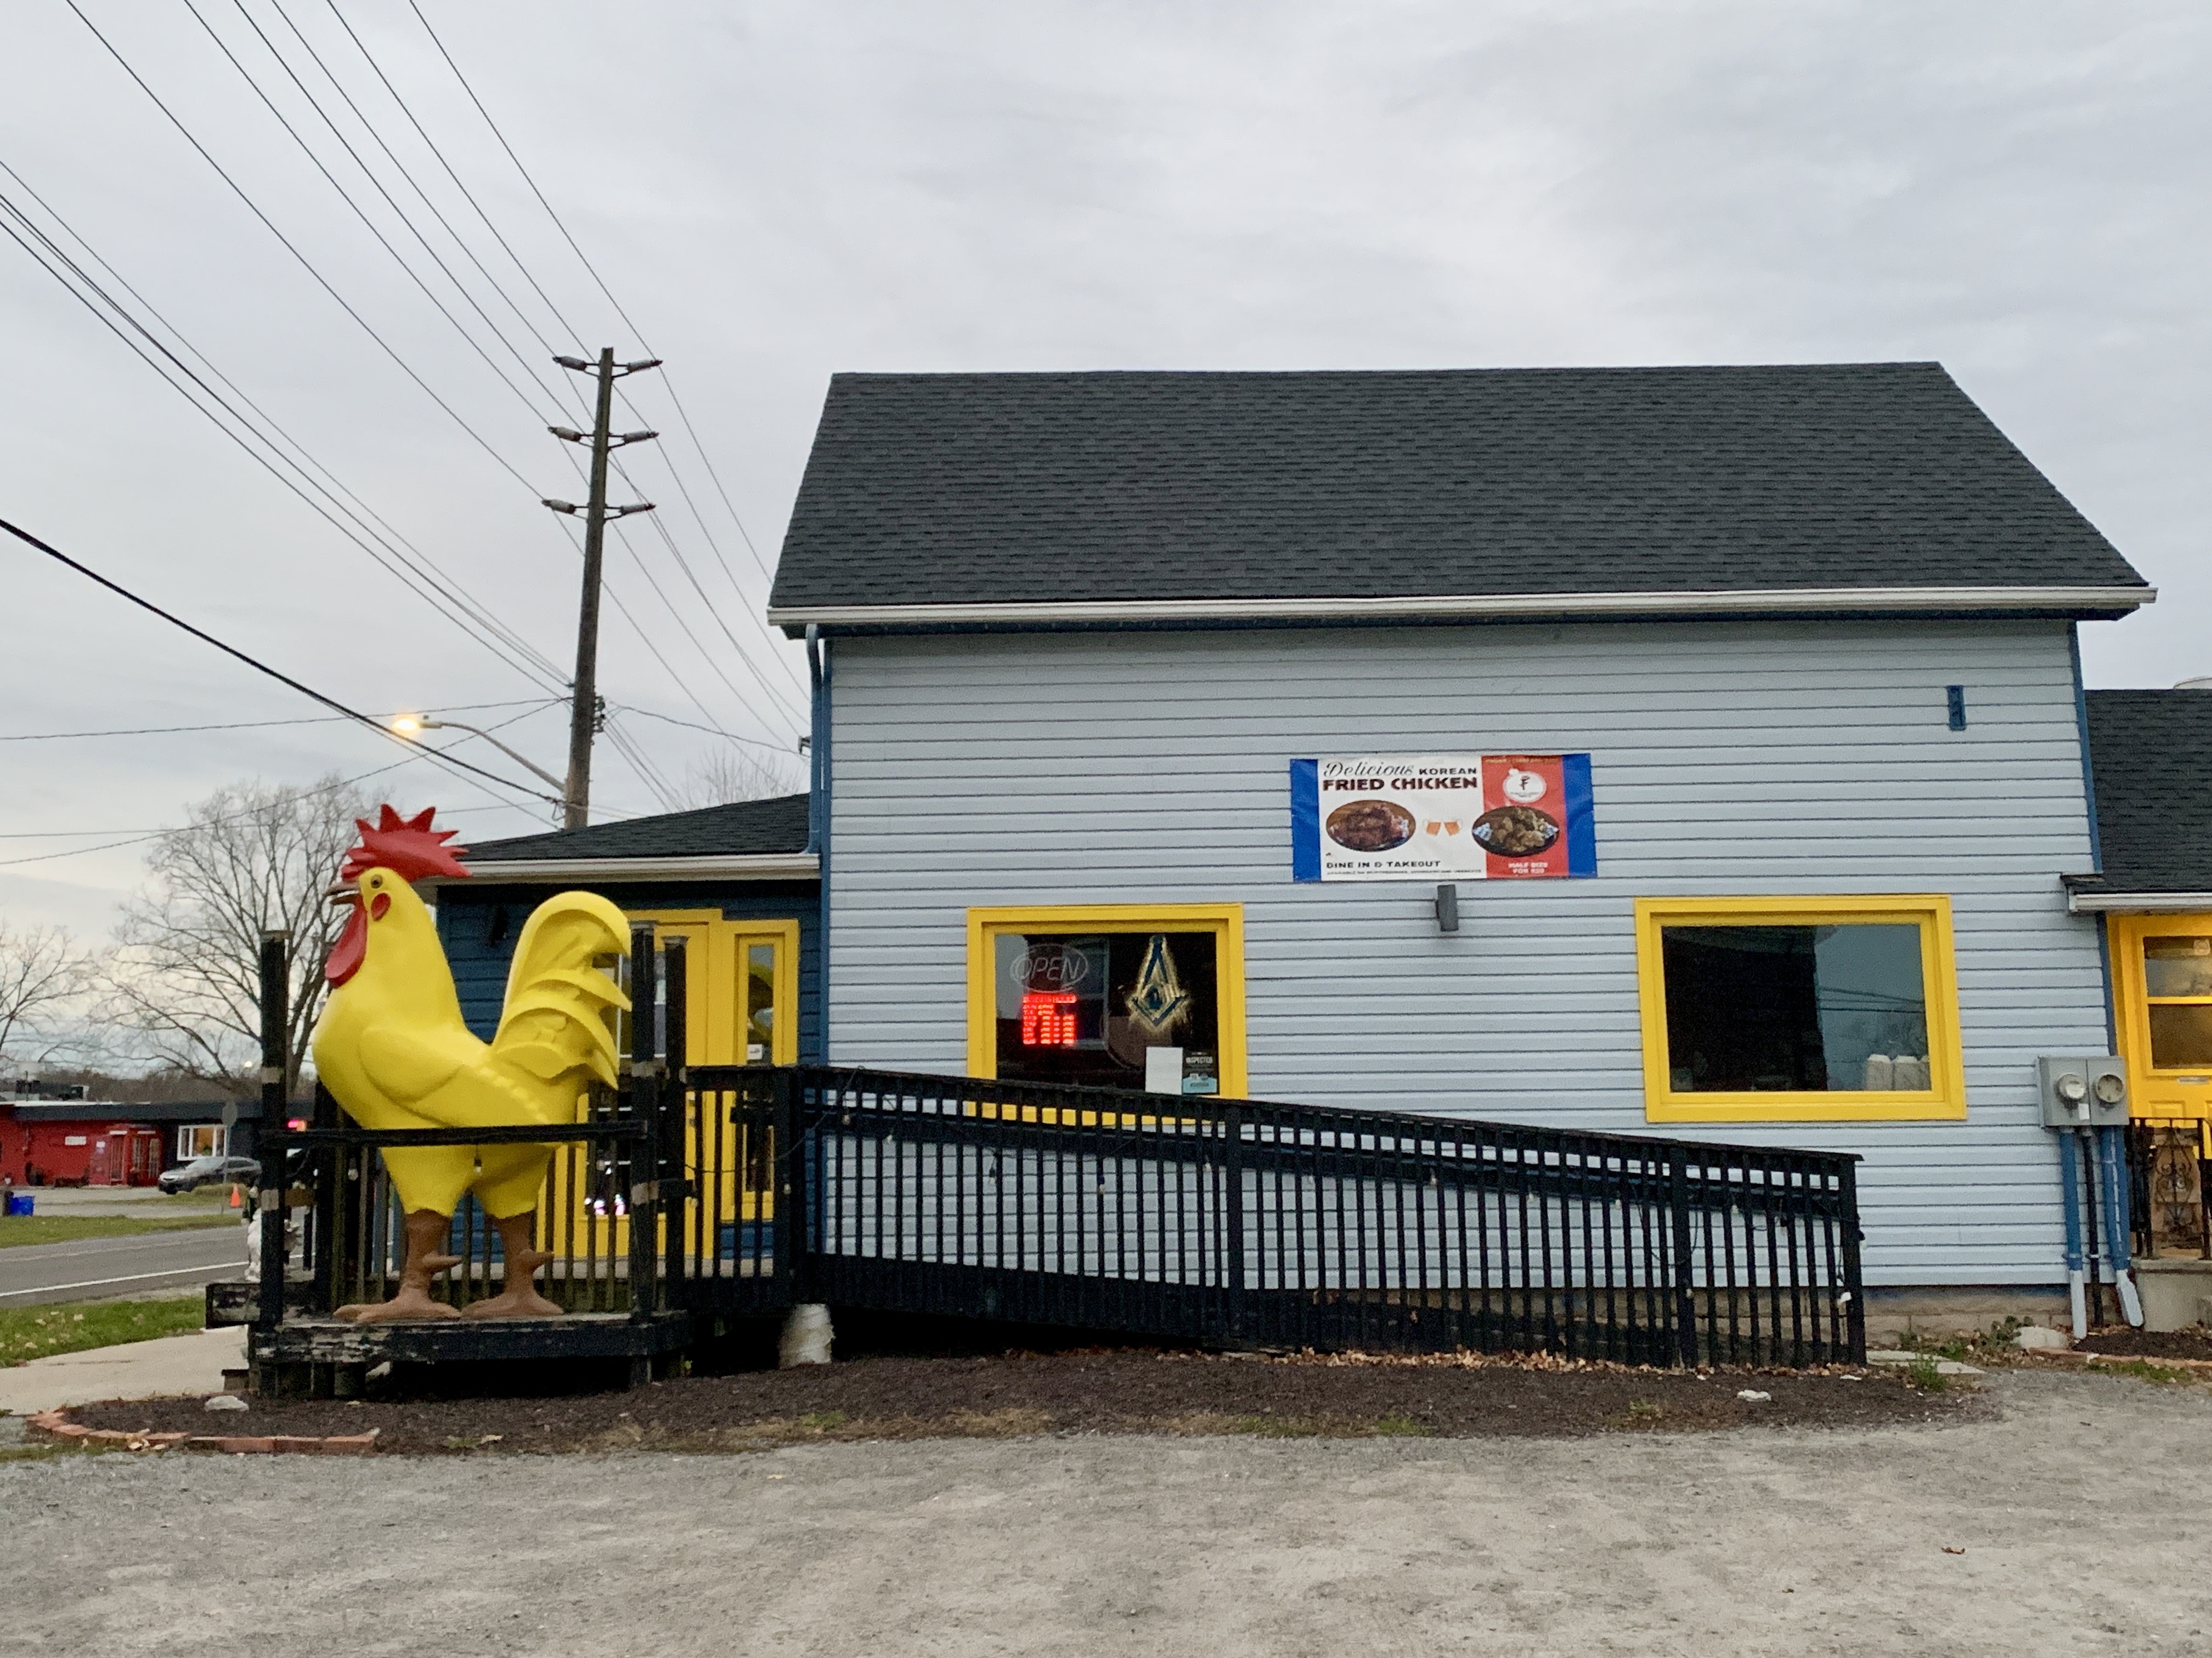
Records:
[[[1929,1088],[1674,1092],[1666,1046],[1663,926],[1920,926],[1920,986],[1927,997]],[[1644,1119],[1650,1123],[1882,1123],[1966,1116],[1966,1061],[1958,1030],[1958,962],[1951,900],[1942,893],[1823,898],[1639,898],[1637,997],[1644,1026]]]

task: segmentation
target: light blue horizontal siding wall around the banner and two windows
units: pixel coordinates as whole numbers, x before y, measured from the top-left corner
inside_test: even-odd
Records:
[[[1863,1152],[1869,1282],[2062,1276],[2035,1057],[2106,1046],[2066,623],[841,639],[834,723],[836,1063],[964,1070],[971,904],[1234,900],[1259,1099]],[[1292,878],[1292,758],[1453,752],[1588,752],[1599,873],[1464,882],[1455,935]],[[1949,893],[1969,1119],[1648,1125],[1632,902],[1692,893]]]

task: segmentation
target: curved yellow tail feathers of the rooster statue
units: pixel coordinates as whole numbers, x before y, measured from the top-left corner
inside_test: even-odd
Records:
[[[628,1008],[630,997],[595,962],[628,948],[628,917],[597,893],[555,893],[540,904],[515,940],[491,1054],[549,1083],[582,1072],[613,1085],[606,1010]]]

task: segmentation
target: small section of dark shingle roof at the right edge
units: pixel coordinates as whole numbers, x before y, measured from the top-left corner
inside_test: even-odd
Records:
[[[2212,893],[2212,690],[2090,692],[2104,891]]]

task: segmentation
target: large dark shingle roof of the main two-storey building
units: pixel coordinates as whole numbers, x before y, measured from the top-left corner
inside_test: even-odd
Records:
[[[770,604],[2121,584],[1936,363],[841,374]]]

